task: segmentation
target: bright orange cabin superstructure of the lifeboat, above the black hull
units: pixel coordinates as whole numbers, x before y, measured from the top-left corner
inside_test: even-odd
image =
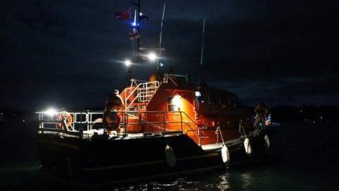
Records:
[[[122,91],[126,132],[183,132],[197,144],[220,143],[253,129],[249,113],[234,93],[194,86],[186,76],[165,74],[164,81],[132,83]]]

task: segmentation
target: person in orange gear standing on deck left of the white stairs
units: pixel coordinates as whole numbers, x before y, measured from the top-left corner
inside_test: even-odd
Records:
[[[104,125],[108,134],[114,129],[117,129],[117,132],[121,132],[119,127],[121,120],[119,111],[121,110],[124,110],[124,101],[119,96],[119,91],[114,90],[105,101]]]

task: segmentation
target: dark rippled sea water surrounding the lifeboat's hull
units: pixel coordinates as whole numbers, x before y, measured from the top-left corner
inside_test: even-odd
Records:
[[[125,185],[70,185],[40,173],[32,124],[1,124],[0,190],[339,190],[338,124],[282,124],[253,163]]]

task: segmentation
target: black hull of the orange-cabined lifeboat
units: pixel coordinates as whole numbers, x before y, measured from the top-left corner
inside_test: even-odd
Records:
[[[265,149],[263,136],[251,139],[254,155]],[[102,183],[225,166],[220,149],[204,151],[185,134],[115,140],[102,138],[38,134],[42,170],[78,183]],[[173,168],[167,166],[165,160],[167,145],[174,150],[176,163]],[[233,144],[228,149],[231,165],[253,157],[246,155],[244,144]]]

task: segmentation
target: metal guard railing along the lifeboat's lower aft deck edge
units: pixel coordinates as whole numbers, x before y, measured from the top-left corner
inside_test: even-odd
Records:
[[[73,131],[69,131],[67,128],[63,128],[60,124],[63,120],[57,120],[57,116],[61,112],[47,113],[37,112],[39,114],[39,127],[38,132],[61,132],[64,134],[70,134],[83,137],[83,134],[93,130],[95,125],[104,129],[102,124],[103,111],[70,111],[67,112],[72,117],[71,126]],[[184,133],[184,129],[194,132],[198,138],[198,144],[200,145],[200,127],[194,122],[194,120],[183,111],[117,111],[117,115],[121,116],[121,122],[119,125],[124,127],[125,134],[129,132],[143,133],[145,136],[150,133],[170,133],[181,132]],[[59,127],[58,127],[59,124]],[[133,131],[134,128],[134,131]],[[138,129],[138,131],[135,131]]]

